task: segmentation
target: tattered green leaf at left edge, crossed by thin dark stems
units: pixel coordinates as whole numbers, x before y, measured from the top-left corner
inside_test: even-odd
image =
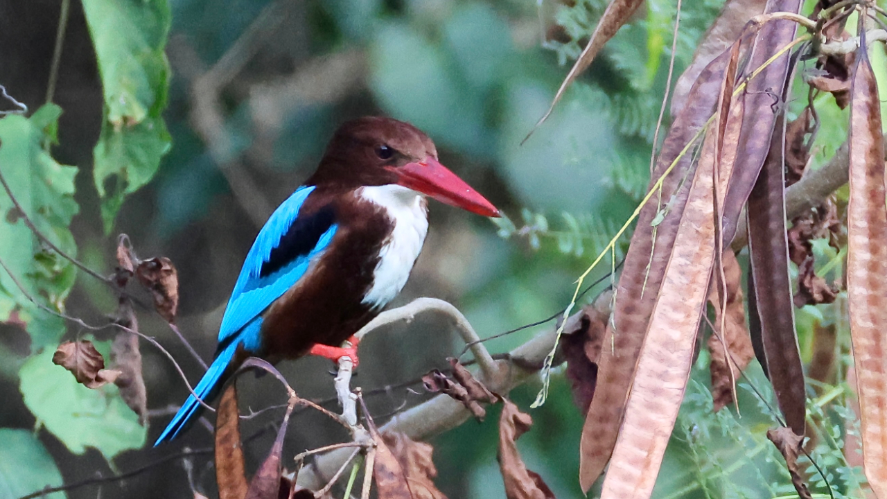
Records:
[[[77,169],[59,164],[43,149],[55,139],[58,106],[48,104],[29,119],[10,115],[0,120],[0,171],[22,210],[40,232],[68,254],[76,253],[68,226],[78,207],[74,200]],[[0,260],[43,305],[61,311],[74,286],[76,269],[67,260],[44,249],[14,209],[12,199],[0,190]],[[35,306],[12,277],[0,270],[0,321],[18,316],[31,336],[31,351],[58,343],[63,321]],[[14,319],[14,317],[12,317]]]

